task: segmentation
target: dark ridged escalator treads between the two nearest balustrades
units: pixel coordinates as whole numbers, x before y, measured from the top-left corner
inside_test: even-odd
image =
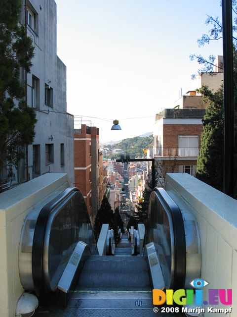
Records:
[[[81,272],[77,291],[151,291],[143,257],[90,256]]]

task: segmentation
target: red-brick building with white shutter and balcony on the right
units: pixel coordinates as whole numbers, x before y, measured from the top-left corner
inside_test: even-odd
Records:
[[[202,118],[205,109],[190,113],[186,109],[165,109],[154,127],[153,148],[148,155],[157,162],[159,185],[166,173],[196,174],[199,155]]]

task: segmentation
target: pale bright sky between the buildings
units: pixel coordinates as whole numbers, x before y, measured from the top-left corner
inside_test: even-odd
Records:
[[[190,90],[190,54],[222,55],[222,40],[197,46],[207,14],[222,21],[220,0],[55,1],[67,111],[75,128],[99,128],[101,143],[152,132],[156,114]]]

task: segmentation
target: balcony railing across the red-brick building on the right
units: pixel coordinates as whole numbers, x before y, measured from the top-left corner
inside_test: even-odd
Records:
[[[167,157],[167,158],[175,158],[175,157],[198,157],[199,148],[179,148],[179,149],[164,149],[153,147],[151,151],[151,155],[153,157]]]

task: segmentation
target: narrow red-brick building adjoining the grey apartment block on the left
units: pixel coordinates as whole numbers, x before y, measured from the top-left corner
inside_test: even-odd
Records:
[[[106,195],[106,172],[99,151],[99,129],[81,125],[74,129],[75,186],[81,191],[94,222],[103,196]]]

